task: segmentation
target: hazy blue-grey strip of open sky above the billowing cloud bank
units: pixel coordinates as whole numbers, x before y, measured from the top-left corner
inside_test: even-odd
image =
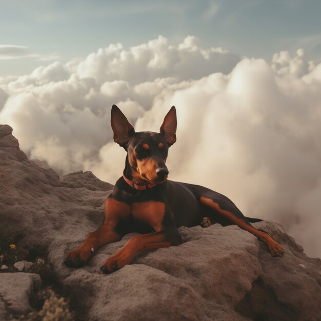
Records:
[[[271,59],[304,47],[321,53],[318,0],[23,0],[0,1],[0,70],[21,75],[39,64],[67,62],[97,48],[125,48],[163,35],[179,43],[188,35],[204,47]],[[21,8],[23,7],[23,10]]]

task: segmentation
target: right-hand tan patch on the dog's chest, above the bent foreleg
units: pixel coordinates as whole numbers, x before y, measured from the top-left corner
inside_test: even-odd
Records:
[[[165,204],[150,200],[149,202],[133,203],[132,213],[135,218],[149,224],[156,232],[163,229]]]

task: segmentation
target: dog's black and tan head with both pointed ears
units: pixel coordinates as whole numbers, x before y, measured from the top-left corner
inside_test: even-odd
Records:
[[[133,176],[160,184],[168,177],[165,165],[168,148],[176,142],[176,109],[173,106],[164,118],[160,132],[135,132],[121,110],[113,105],[111,127],[114,141],[128,153],[128,162]]]

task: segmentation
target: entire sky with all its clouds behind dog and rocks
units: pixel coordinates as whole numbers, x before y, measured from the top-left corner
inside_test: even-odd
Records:
[[[175,105],[169,178],[321,256],[321,2],[0,4],[0,124],[30,159],[114,184],[111,106],[158,131]]]

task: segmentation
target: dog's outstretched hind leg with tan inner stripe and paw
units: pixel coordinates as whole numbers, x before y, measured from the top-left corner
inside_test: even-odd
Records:
[[[226,196],[209,189],[204,189],[199,197],[199,201],[202,205],[211,208],[215,214],[222,216],[224,219],[232,222],[232,224],[236,224],[262,240],[269,247],[272,256],[283,256],[284,248],[275,242],[268,233],[254,228],[243,213]]]

